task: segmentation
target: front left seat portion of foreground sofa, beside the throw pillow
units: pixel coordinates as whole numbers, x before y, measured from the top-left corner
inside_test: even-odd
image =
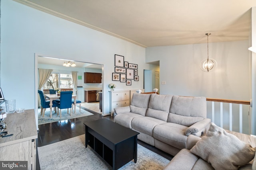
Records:
[[[192,170],[198,158],[198,156],[192,154],[188,149],[182,149],[163,170]]]

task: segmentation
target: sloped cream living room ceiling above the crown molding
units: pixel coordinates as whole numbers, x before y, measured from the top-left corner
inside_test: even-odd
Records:
[[[256,0],[16,0],[142,47],[246,40]]]

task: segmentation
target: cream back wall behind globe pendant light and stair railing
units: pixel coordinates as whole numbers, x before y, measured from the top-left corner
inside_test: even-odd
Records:
[[[215,59],[218,66],[212,72],[203,72],[200,62],[207,58],[206,43],[146,48],[146,62],[160,60],[161,94],[249,101],[251,63],[248,40],[209,43],[209,57]],[[166,81],[166,85],[162,85],[162,81]],[[207,117],[211,118],[211,115]],[[224,118],[224,123],[228,123],[225,114]],[[215,117],[215,122],[220,125],[220,118]],[[243,125],[244,133],[248,133],[246,111]],[[239,124],[233,126],[237,131]]]

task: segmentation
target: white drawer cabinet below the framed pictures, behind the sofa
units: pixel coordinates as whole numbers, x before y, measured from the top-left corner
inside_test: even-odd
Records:
[[[116,107],[130,106],[130,90],[127,91],[109,91],[110,92],[110,109],[111,116]]]

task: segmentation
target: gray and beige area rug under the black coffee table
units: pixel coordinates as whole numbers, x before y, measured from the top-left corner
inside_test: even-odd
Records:
[[[84,135],[38,147],[41,170],[111,170],[94,150],[85,148]],[[134,160],[119,170],[162,170],[170,160],[138,144],[137,163]]]

